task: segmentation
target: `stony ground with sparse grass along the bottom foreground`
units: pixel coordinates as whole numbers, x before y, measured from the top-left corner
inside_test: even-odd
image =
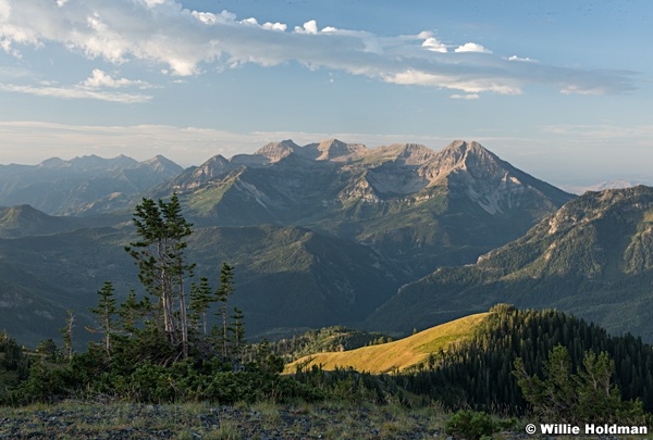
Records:
[[[447,418],[436,407],[402,405],[66,402],[5,411],[0,438],[423,439],[446,437]]]

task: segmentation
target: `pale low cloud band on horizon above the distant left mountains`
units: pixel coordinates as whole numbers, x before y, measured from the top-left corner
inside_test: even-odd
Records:
[[[199,165],[215,154],[231,158],[251,153],[268,142],[293,138],[300,144],[333,134],[235,134],[201,127],[170,125],[99,126],[33,121],[0,122],[0,138],[11,149],[0,151],[0,163],[37,164],[53,155],[62,159],[126,154],[143,161],[163,154],[180,165]]]

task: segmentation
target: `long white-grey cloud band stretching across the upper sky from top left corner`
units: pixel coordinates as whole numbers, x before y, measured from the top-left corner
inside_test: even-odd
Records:
[[[423,32],[380,37],[362,30],[259,24],[233,13],[184,9],[176,0],[0,0],[0,50],[20,56],[24,47],[61,45],[88,59],[121,65],[144,61],[174,76],[256,63],[296,61],[399,84],[465,93],[520,93],[528,84],[566,93],[619,93],[632,89],[621,72],[516,63],[476,42],[454,51]],[[527,60],[519,59],[518,61]]]

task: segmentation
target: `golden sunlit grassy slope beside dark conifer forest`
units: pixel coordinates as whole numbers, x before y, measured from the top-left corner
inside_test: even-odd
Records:
[[[488,313],[466,316],[408,338],[379,345],[362,347],[352,351],[311,354],[286,365],[285,370],[292,373],[298,365],[308,367],[322,365],[324,369],[353,367],[358,372],[372,374],[404,370],[424,362],[430,353],[438,352],[440,349],[446,350],[454,341],[469,339],[486,316]]]

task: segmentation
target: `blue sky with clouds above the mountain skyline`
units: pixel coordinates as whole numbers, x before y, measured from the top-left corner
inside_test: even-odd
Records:
[[[0,0],[0,164],[476,140],[653,184],[653,2]]]

